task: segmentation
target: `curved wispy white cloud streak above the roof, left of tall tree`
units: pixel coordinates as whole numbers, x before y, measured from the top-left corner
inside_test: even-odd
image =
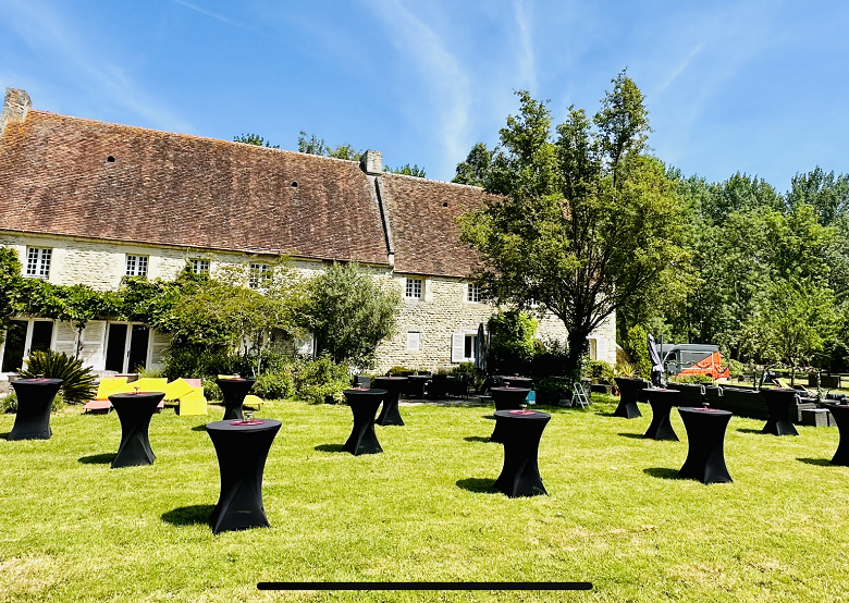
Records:
[[[471,91],[469,76],[445,42],[401,0],[372,0],[368,4],[385,24],[392,44],[409,54],[427,78],[429,102],[438,108],[440,135],[445,149],[441,171],[453,173],[454,159],[466,157]]]

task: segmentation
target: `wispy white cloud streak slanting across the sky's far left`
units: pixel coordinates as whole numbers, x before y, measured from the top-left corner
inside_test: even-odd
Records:
[[[5,16],[7,27],[15,30],[34,52],[64,69],[89,96],[107,98],[143,116],[153,127],[192,131],[188,122],[142,90],[124,69],[106,59],[107,53],[97,51],[82,36],[72,33],[71,25],[53,11],[38,3],[12,0],[5,4]],[[48,82],[42,86],[52,87]]]

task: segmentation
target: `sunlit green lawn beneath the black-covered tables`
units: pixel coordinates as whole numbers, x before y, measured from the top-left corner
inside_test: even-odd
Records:
[[[271,528],[213,537],[214,451],[165,409],[148,467],[110,469],[114,414],[53,416],[49,441],[9,442],[0,417],[0,601],[844,601],[849,468],[836,428],[762,435],[733,418],[734,483],[676,477],[687,443],[639,436],[645,417],[553,409],[540,445],[550,496],[491,489],[492,408],[402,408],[384,453],[340,452],[346,406],[279,402],[264,473]],[[684,426],[673,411],[682,440]],[[258,581],[591,581],[590,592],[260,592]]]

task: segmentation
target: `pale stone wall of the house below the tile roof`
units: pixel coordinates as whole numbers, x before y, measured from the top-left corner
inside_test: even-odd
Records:
[[[148,278],[165,280],[174,279],[189,258],[209,259],[213,274],[222,267],[245,266],[248,261],[244,254],[14,233],[0,233],[0,245],[15,248],[22,263],[26,260],[27,246],[52,248],[50,282],[62,285],[84,283],[99,291],[118,288],[125,271],[127,255],[148,256]],[[304,276],[309,276],[323,270],[325,264],[321,261],[298,259],[293,260],[292,266]],[[370,270],[376,279],[398,287],[402,295],[404,294],[406,274],[392,273],[380,268]],[[462,337],[466,334],[476,334],[478,325],[481,322],[485,324],[495,311],[489,304],[468,302],[468,284],[460,279],[416,278],[423,280],[422,298],[403,300],[395,336],[378,347],[376,370],[380,372],[393,366],[428,370],[456,366],[459,360],[456,349],[454,358],[452,357],[452,344],[462,343]],[[72,331],[70,325],[59,325],[54,330],[59,336],[56,343],[63,352],[71,352],[75,345]],[[418,349],[408,349],[408,340],[415,336],[410,333],[418,334]],[[104,367],[107,334],[108,325],[104,321],[91,321],[83,335],[83,358],[96,370],[102,370]],[[557,318],[549,315],[539,320],[537,339],[565,341],[566,334],[566,329]],[[600,327],[593,333],[593,340],[591,350],[601,353],[596,355],[613,364],[616,358],[614,320],[608,320]],[[600,345],[599,340],[605,343]],[[151,333],[148,348],[151,367],[161,362],[168,342],[168,335]]]

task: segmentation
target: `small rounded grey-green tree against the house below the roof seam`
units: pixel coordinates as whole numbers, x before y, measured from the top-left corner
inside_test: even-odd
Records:
[[[307,285],[305,325],[317,353],[365,368],[378,344],[393,335],[399,306],[399,291],[382,287],[356,262],[334,262]]]

